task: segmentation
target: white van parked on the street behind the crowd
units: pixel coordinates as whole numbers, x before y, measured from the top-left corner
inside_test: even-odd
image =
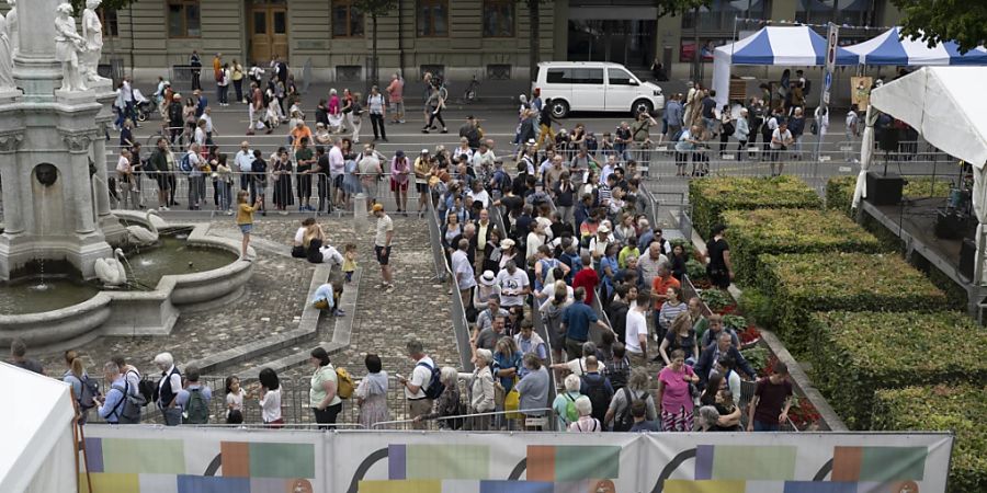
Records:
[[[631,112],[665,110],[661,88],[642,82],[623,65],[604,61],[543,61],[532,89],[552,100],[552,114],[569,112]]]

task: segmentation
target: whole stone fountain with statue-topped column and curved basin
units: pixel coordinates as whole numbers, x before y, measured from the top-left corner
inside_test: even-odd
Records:
[[[125,246],[121,219],[150,226],[150,215],[111,211],[104,136],[115,93],[97,74],[99,3],[87,1],[82,34],[65,0],[21,1],[0,15],[0,345],[13,337],[65,347],[99,335],[167,335],[182,310],[236,299],[252,273],[252,262],[237,259],[238,241],[209,236],[208,225],[185,225],[180,244],[164,238],[127,263],[134,278],[149,270],[133,264],[157,263],[154,286],[106,289],[95,279],[98,261],[117,262],[114,251]],[[157,237],[183,225],[155,226]],[[196,263],[201,268],[192,268]],[[42,297],[53,276],[76,287],[45,294],[54,309],[44,301],[24,310],[21,303]],[[3,290],[22,279],[31,289]]]

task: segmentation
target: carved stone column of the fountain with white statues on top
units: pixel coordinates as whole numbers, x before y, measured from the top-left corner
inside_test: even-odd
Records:
[[[77,50],[70,18],[59,14],[63,0],[31,0],[18,5],[20,50],[13,58],[16,91],[0,91],[0,173],[4,188],[5,231],[0,236],[0,280],[29,275],[37,262],[95,276],[97,259],[112,256],[103,226],[116,238],[125,231],[109,210],[106,187],[94,188],[90,161],[106,183],[105,146],[100,134],[100,95],[106,81],[66,84],[57,53]],[[63,15],[59,18],[59,15]],[[56,30],[56,24],[58,30]],[[81,38],[80,38],[81,39]],[[57,53],[56,53],[57,51]],[[67,88],[70,90],[65,90]],[[103,116],[103,119],[105,117]]]

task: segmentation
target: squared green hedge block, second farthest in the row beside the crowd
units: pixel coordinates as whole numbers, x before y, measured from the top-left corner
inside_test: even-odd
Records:
[[[763,253],[864,252],[887,250],[873,234],[833,210],[757,209],[727,210],[730,260],[737,280],[755,282]]]

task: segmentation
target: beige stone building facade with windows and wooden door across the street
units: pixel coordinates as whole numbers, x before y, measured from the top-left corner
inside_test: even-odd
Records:
[[[362,80],[370,74],[373,21],[354,0],[138,0],[102,12],[104,57],[121,60],[139,79],[189,64],[193,49],[208,66],[266,64],[272,56],[313,80]],[[481,80],[527,77],[527,0],[396,0],[377,18],[382,78],[401,69]],[[5,7],[5,5],[4,5]],[[651,0],[542,0],[542,60],[615,61],[647,70],[653,60],[684,78],[699,50],[756,31],[756,22],[808,22],[889,26],[898,13],[889,0],[712,0],[708,9],[659,18]],[[866,33],[860,34],[861,36]],[[847,32],[847,39],[853,34]],[[696,44],[695,39],[699,39]]]

